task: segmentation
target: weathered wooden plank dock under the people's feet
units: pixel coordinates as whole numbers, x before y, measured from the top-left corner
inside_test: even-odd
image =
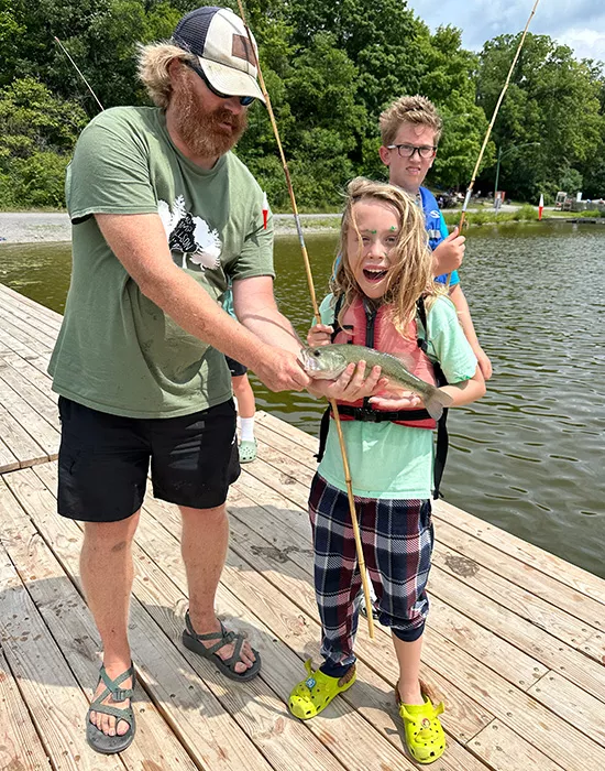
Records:
[[[262,653],[248,685],[183,648],[175,507],[147,497],[130,634],[138,735],[85,741],[99,640],[78,576],[81,531],[56,513],[58,420],[46,374],[61,317],[0,285],[0,771],[395,771],[405,753],[389,637],[358,638],[359,681],[319,717],[288,693],[318,661],[306,500],[316,441],[260,413],[258,459],[229,498],[219,613]],[[424,677],[444,697],[436,771],[605,769],[605,582],[439,502]]]

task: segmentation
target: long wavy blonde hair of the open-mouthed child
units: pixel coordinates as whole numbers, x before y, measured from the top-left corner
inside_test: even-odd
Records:
[[[442,290],[436,285],[432,276],[432,252],[428,245],[425,216],[416,200],[399,187],[382,182],[372,182],[362,176],[349,183],[348,198],[342,215],[339,256],[334,263],[331,290],[334,298],[344,295],[342,314],[354,300],[362,296],[353,271],[351,258],[359,259],[362,253],[362,239],[355,221],[354,207],[361,202],[380,202],[393,207],[399,219],[399,236],[388,259],[387,290],[381,303],[392,307],[392,321],[399,333],[407,336],[409,324],[416,317],[416,302],[422,295],[428,298],[428,306]],[[359,252],[349,254],[349,234],[353,229],[358,235]]]

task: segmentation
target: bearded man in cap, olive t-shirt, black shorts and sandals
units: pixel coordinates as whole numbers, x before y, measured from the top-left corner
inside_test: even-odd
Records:
[[[185,645],[235,681],[261,667],[215,613],[224,501],[240,473],[223,354],[274,391],[309,379],[273,295],[263,192],[229,152],[250,104],[263,101],[255,61],[234,13],[188,13],[169,43],[140,50],[156,107],[95,118],[67,173],[73,275],[50,372],[62,419],[58,511],[85,522],[81,582],[103,648],[87,719],[99,752],[134,737],[131,547],[150,461],[154,495],[183,519]],[[241,323],[219,303],[230,283]]]

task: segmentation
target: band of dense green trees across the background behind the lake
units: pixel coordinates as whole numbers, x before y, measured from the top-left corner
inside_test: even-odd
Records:
[[[61,205],[69,153],[99,109],[54,36],[105,107],[148,104],[136,82],[136,44],[168,39],[198,4],[0,0],[0,205]],[[224,4],[238,12],[237,0]],[[431,32],[405,0],[248,0],[245,9],[301,208],[338,207],[354,175],[386,178],[377,123],[402,94],[425,94],[443,116],[429,184],[468,185],[518,37],[488,41],[477,55],[462,47],[460,30]],[[584,195],[604,195],[604,111],[600,67],[528,35],[477,187],[493,187],[502,148],[501,187],[509,195],[550,198],[579,177]],[[255,105],[249,122],[237,152],[273,208],[288,210],[266,110]]]

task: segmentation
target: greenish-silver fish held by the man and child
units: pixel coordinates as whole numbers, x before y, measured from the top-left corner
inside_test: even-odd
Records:
[[[427,412],[436,421],[443,414],[443,409],[450,406],[453,401],[449,393],[444,393],[432,383],[420,380],[413,374],[404,360],[375,348],[345,343],[319,346],[318,348],[305,347],[300,350],[302,369],[314,380],[334,380],[346,369],[348,365],[359,361],[365,361],[369,368],[378,366],[382,377],[419,394]]]

